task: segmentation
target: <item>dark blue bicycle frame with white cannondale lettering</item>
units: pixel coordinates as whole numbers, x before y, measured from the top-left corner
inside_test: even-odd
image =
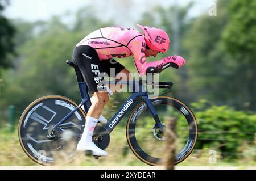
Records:
[[[70,62],[70,61],[66,61],[66,62],[70,66],[72,66],[76,71],[76,77],[77,77],[77,82],[78,82],[78,85],[79,85],[79,90],[80,90],[82,102],[74,110],[72,110],[70,113],[68,113],[67,116],[65,116],[62,120],[60,120],[59,123],[57,123],[55,125],[55,127],[53,127],[53,129],[50,133],[51,135],[54,134],[57,127],[59,127],[59,125],[64,123],[64,121],[66,121],[81,106],[84,106],[85,114],[87,114],[87,112],[88,112],[88,110],[91,106],[90,97],[89,97],[89,94],[88,94],[88,86],[86,85],[86,82],[84,82],[84,78],[82,77],[81,71],[76,68],[76,66],[73,64],[73,62]],[[148,81],[146,81],[146,83],[148,83]],[[152,83],[152,86],[158,86],[159,88],[167,88],[167,89],[170,89],[170,90],[171,90],[172,85],[173,85],[172,82],[159,82],[157,85],[155,85],[154,82],[150,82],[150,83]],[[109,81],[109,82],[106,82],[106,84],[108,84],[108,85],[109,84],[133,85],[133,92],[131,93],[129,98],[127,98],[125,103],[122,104],[122,106],[115,113],[115,115],[112,117],[112,119],[110,119],[109,123],[105,125],[105,128],[106,128],[106,130],[108,130],[109,133],[111,133],[113,131],[113,129],[123,119],[123,117],[125,117],[126,113],[129,112],[131,107],[133,107],[133,105],[137,102],[137,100],[140,97],[143,98],[143,100],[146,102],[148,108],[150,109],[151,115],[154,117],[154,120],[156,122],[156,127],[158,127],[160,129],[160,131],[163,131],[163,126],[160,123],[158,114],[157,114],[154,106],[152,105],[150,99],[148,98],[148,94],[146,92],[146,89],[145,89],[142,81]]]

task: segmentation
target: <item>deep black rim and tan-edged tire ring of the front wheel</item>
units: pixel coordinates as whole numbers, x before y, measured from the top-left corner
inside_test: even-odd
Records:
[[[185,119],[187,120],[188,127],[189,127],[189,137],[187,140],[187,144],[175,156],[175,165],[176,165],[184,161],[184,159],[186,159],[195,148],[197,137],[198,137],[198,125],[197,125],[196,117],[193,114],[193,112],[190,110],[190,108],[178,99],[171,98],[168,96],[159,96],[157,98],[151,99],[151,102],[153,104],[156,104],[157,101],[159,102],[159,104],[168,104],[168,106],[173,106],[174,108],[179,110],[179,112],[181,112],[183,115],[184,115],[184,109],[187,110],[187,113],[186,113],[187,115],[184,115],[184,116],[185,116]],[[135,134],[136,125],[137,125],[137,121],[139,120],[139,116],[141,116],[142,112],[144,112],[147,109],[148,108],[146,106],[146,102],[144,102],[143,100],[131,112],[131,115],[129,116],[129,119],[126,125],[127,142],[131,151],[133,151],[134,155],[137,158],[139,158],[142,162],[151,166],[162,166],[164,164],[163,159],[148,155],[138,144],[138,139]]]

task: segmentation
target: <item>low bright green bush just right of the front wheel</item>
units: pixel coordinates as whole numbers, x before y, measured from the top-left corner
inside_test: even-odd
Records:
[[[211,148],[223,157],[238,157],[243,144],[255,143],[256,115],[253,112],[236,111],[228,106],[210,106],[207,100],[192,103],[199,138],[196,149]]]

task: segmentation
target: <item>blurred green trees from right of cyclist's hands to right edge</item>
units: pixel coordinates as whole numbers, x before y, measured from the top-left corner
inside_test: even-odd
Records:
[[[218,1],[217,16],[196,18],[187,31],[189,87],[195,99],[256,110],[256,1]]]

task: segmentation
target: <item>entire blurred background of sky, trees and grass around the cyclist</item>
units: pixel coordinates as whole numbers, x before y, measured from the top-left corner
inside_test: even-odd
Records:
[[[64,61],[83,37],[102,27],[143,24],[170,35],[170,50],[156,60],[174,54],[187,60],[160,74],[174,82],[171,96],[187,103],[199,123],[196,149],[180,165],[255,166],[255,10],[256,0],[0,0],[0,165],[35,165],[17,134],[28,104],[45,95],[80,102],[75,71]],[[119,62],[136,72],[132,58]],[[103,115],[110,119],[128,95],[114,95]],[[108,158],[72,164],[144,165],[129,150],[122,122]]]

